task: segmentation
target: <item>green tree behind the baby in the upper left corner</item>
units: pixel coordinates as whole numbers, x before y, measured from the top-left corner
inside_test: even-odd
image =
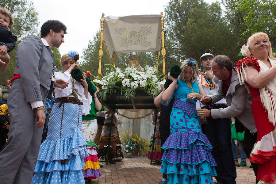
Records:
[[[16,48],[9,53],[10,63],[0,75],[0,84],[2,84],[6,79],[13,78],[17,45],[27,36],[36,32],[38,12],[36,12],[33,2],[28,0],[1,0],[0,6],[8,9],[13,14],[14,25],[11,31],[18,37]]]

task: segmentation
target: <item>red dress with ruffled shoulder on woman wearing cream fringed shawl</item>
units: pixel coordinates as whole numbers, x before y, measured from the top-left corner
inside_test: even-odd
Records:
[[[254,57],[245,57],[237,62],[236,72],[240,67],[246,67],[246,65],[252,65],[258,72],[260,71],[258,59],[255,59]],[[251,109],[258,132],[256,143],[258,143],[258,141],[262,142],[262,145],[259,146],[257,152],[251,153],[249,160],[253,163],[259,164],[257,174],[258,180],[265,181],[267,183],[274,183],[274,179],[276,178],[276,143],[271,142],[276,140],[276,136],[273,133],[275,127],[268,120],[268,113],[261,102],[259,89],[251,87],[248,83],[246,84],[249,88],[251,97],[253,98]],[[266,137],[262,139],[264,136]],[[270,147],[269,151],[267,148],[266,151],[264,151],[265,149],[263,149],[263,147]]]

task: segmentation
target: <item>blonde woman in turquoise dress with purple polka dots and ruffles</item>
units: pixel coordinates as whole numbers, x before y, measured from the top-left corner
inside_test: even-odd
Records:
[[[162,148],[160,172],[167,174],[167,183],[171,184],[213,184],[216,176],[216,162],[211,154],[212,146],[202,133],[196,111],[196,101],[205,95],[198,85],[197,62],[186,59],[181,65],[179,79],[168,74],[173,82],[164,91],[162,99],[167,101],[174,93],[174,105],[171,111],[171,135]]]

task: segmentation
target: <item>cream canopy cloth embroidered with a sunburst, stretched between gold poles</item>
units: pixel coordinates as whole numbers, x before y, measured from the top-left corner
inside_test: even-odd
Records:
[[[161,43],[161,15],[131,15],[104,18],[103,41],[113,52],[155,52]]]

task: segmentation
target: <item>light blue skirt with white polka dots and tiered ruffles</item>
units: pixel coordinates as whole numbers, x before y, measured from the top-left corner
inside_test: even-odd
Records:
[[[53,105],[46,140],[40,145],[32,183],[84,184],[82,168],[88,156],[81,133],[80,105]]]

